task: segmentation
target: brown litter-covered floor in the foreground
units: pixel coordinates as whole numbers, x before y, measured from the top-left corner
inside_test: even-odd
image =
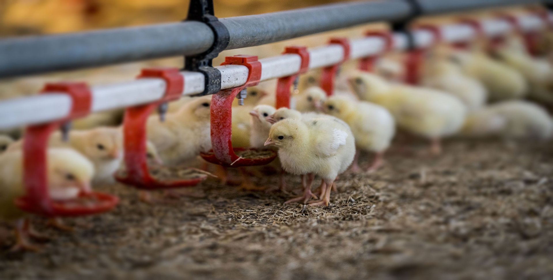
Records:
[[[63,233],[36,219],[55,237],[42,251],[6,252],[13,239],[3,242],[0,278],[553,278],[550,144],[452,140],[440,157],[423,149],[392,151],[371,175],[343,175],[329,207],[216,182],[194,189],[202,198],[156,205],[106,187],[122,198],[116,210],[68,221],[90,228]]]

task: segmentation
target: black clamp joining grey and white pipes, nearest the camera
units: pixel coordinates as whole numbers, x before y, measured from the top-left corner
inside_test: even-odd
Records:
[[[204,74],[204,92],[197,96],[215,94],[221,90],[221,72],[213,67],[213,59],[228,46],[230,36],[227,27],[215,17],[213,0],[190,0],[186,20],[205,23],[213,31],[213,45],[202,54],[186,56],[184,70]]]

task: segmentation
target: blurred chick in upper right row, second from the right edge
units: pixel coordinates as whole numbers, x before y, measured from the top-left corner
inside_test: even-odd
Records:
[[[528,84],[517,70],[483,52],[455,51],[450,57],[467,76],[484,84],[491,101],[523,98],[528,93]]]

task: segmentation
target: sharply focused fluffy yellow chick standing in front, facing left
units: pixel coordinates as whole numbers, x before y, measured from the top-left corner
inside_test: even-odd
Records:
[[[326,117],[308,122],[285,119],[275,123],[265,145],[279,148],[280,163],[286,172],[309,175],[304,184],[307,202],[312,196],[313,175],[322,178],[321,200],[310,205],[328,205],[332,185],[338,174],[347,170],[355,155],[355,141],[348,125],[342,120]]]

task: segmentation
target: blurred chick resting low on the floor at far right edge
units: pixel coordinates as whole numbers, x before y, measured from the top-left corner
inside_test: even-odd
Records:
[[[550,139],[553,120],[538,104],[527,101],[504,101],[468,115],[461,131],[473,137]]]

